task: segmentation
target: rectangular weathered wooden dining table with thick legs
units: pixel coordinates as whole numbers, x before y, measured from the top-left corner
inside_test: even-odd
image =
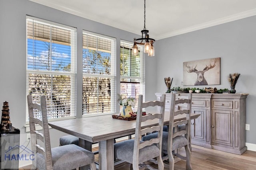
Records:
[[[147,114],[150,112],[147,112]],[[200,114],[191,113],[191,119],[196,119]],[[169,124],[170,112],[164,114],[164,125]],[[178,115],[174,121],[185,118]],[[142,127],[156,124],[156,120],[142,123]],[[98,115],[61,121],[52,121],[48,124],[59,131],[74,135],[79,138],[79,146],[92,150],[92,143],[99,143],[99,170],[114,170],[114,139],[135,133],[136,120],[126,121],[113,119],[112,115]]]

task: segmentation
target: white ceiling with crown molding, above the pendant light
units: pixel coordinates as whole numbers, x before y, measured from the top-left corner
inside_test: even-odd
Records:
[[[144,0],[30,0],[136,33],[144,28]],[[154,39],[256,15],[256,0],[146,0],[146,29]]]

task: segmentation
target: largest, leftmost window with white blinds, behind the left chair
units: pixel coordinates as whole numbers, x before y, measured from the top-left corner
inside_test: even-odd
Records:
[[[74,116],[75,68],[76,29],[27,16],[26,94],[46,96],[48,119]]]

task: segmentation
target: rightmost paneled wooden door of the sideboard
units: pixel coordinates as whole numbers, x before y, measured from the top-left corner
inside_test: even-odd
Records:
[[[212,143],[232,146],[232,111],[212,109]]]

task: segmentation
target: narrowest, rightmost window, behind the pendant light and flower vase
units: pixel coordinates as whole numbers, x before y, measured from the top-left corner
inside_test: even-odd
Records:
[[[140,53],[142,47],[138,47],[139,53],[134,56],[132,46],[133,44],[125,42],[120,45],[120,94],[138,99],[139,94],[144,94],[144,60],[143,53]]]

